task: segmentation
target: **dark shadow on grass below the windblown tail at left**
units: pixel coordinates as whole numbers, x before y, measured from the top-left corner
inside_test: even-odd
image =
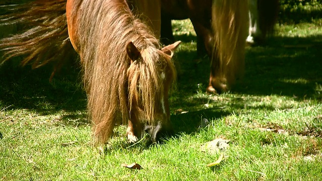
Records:
[[[5,63],[0,67],[0,107],[28,109],[40,115],[63,111],[61,120],[65,123],[71,119],[84,120],[84,115],[79,112],[86,111],[87,100],[78,68],[62,68],[50,82],[51,72],[50,65],[31,69]]]

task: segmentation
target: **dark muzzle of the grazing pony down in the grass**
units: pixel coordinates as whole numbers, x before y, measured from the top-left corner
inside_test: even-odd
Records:
[[[160,142],[162,138],[171,136],[174,134],[174,130],[171,125],[156,124],[150,127],[150,135],[152,142]]]

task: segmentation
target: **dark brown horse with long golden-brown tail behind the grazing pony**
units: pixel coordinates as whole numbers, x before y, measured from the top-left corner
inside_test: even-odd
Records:
[[[228,91],[243,74],[248,9],[248,0],[162,0],[162,39],[173,40],[172,19],[189,18],[198,42],[204,43],[197,44],[197,51],[205,47],[211,58],[210,94]]]

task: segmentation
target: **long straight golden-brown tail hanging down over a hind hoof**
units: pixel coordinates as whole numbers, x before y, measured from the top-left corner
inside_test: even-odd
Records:
[[[212,86],[227,91],[244,72],[248,0],[213,0]]]

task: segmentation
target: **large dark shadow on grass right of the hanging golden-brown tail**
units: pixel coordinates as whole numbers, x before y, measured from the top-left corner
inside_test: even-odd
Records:
[[[266,46],[248,48],[246,73],[233,91],[314,99],[322,84],[322,36],[272,37]]]

